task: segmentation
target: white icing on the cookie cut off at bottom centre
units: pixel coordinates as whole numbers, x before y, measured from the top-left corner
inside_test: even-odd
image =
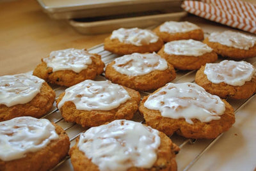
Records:
[[[80,151],[100,171],[125,171],[131,167],[151,168],[160,145],[158,131],[141,123],[116,120],[90,128],[80,135]]]

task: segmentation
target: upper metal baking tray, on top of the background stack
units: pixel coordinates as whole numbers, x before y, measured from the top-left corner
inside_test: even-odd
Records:
[[[182,0],[37,0],[52,19],[120,15],[141,11],[176,10]]]

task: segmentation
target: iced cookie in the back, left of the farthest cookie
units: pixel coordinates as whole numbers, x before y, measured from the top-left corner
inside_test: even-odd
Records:
[[[157,52],[163,40],[148,29],[120,28],[104,40],[104,49],[118,55]]]

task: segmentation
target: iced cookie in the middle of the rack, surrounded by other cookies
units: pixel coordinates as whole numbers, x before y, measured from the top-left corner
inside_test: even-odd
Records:
[[[105,76],[113,83],[138,91],[149,91],[172,81],[176,73],[173,66],[156,53],[134,53],[109,63]]]

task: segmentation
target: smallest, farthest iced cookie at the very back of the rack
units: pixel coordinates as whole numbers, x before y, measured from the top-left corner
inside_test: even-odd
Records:
[[[164,42],[173,40],[203,40],[204,31],[191,22],[164,22],[154,29],[154,32]]]

